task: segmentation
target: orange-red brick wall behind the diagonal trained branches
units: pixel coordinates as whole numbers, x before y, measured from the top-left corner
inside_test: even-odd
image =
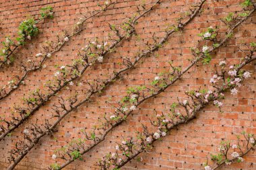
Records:
[[[28,42],[15,52],[16,60],[13,65],[0,71],[0,84],[6,85],[14,75],[22,73],[20,64],[33,58],[40,52],[41,43],[45,40],[56,40],[56,36],[61,35],[63,30],[71,30],[73,24],[77,23],[79,17],[86,15],[87,11],[97,9],[98,1],[92,0],[21,0],[0,2],[1,34],[0,40],[5,40],[5,36],[15,36],[17,28],[27,15],[38,17],[39,9],[46,5],[51,5],[55,11],[54,19],[47,19],[40,24],[42,30],[38,38]],[[84,73],[82,80],[106,79],[113,71],[121,67],[117,64],[121,56],[134,58],[135,54],[146,48],[146,42],[152,42],[152,34],[161,38],[164,36],[166,24],[175,24],[180,15],[184,15],[191,5],[197,1],[192,0],[163,0],[156,9],[150,11],[145,17],[139,19],[136,28],[136,36],[125,40],[117,46],[117,52],[112,52],[104,59],[102,64],[91,67]],[[189,58],[193,58],[189,48],[195,47],[200,40],[199,34],[209,26],[221,26],[224,32],[224,24],[220,22],[230,12],[241,11],[240,3],[237,0],[207,1],[199,17],[185,27],[183,32],[176,32],[168,39],[168,43],[163,48],[155,52],[157,55],[150,55],[143,59],[135,69],[127,71],[119,81],[110,85],[100,95],[94,95],[92,101],[81,105],[76,112],[71,112],[57,128],[53,136],[46,136],[26,155],[17,169],[44,169],[55,161],[51,158],[53,151],[64,146],[73,138],[83,138],[79,130],[83,128],[93,128],[98,118],[102,118],[104,113],[113,112],[113,106],[117,105],[124,95],[127,87],[134,85],[149,85],[152,79],[161,71],[168,70],[168,61],[172,60],[174,65],[186,67]],[[154,1],[146,1],[146,4]],[[140,1],[118,0],[117,4],[110,7],[100,15],[92,17],[85,25],[86,30],[71,38],[65,46],[55,53],[49,60],[46,60],[46,68],[42,71],[30,73],[26,79],[26,85],[22,85],[9,97],[0,101],[1,116],[8,117],[13,110],[13,105],[21,104],[22,97],[28,96],[31,91],[39,88],[44,90],[46,80],[53,79],[53,74],[57,71],[55,65],[67,65],[77,58],[77,52],[89,41],[98,38],[104,40],[110,33],[110,24],[121,24],[125,19],[131,17],[136,12],[136,6]],[[256,36],[256,16],[250,17],[247,22],[236,29],[234,37],[212,54],[210,65],[197,65],[186,73],[182,80],[177,81],[164,93],[150,99],[140,105],[139,109],[130,116],[127,121],[113,130],[106,140],[96,146],[88,154],[84,155],[84,161],[75,161],[66,169],[96,169],[96,161],[115,148],[115,142],[120,142],[122,136],[135,136],[135,130],[141,130],[141,123],[150,126],[149,118],[155,116],[156,112],[168,112],[172,102],[177,101],[177,97],[185,97],[184,91],[208,87],[210,77],[214,74],[214,65],[225,59],[228,65],[238,64],[243,57],[238,52],[239,46],[243,42],[255,41]],[[245,130],[256,134],[256,110],[255,100],[255,65],[246,67],[251,71],[252,77],[238,88],[237,95],[227,93],[223,100],[224,107],[222,113],[218,108],[209,105],[199,112],[197,118],[188,124],[178,126],[172,130],[165,138],[156,142],[150,153],[143,153],[139,157],[143,161],[131,161],[124,169],[203,169],[201,164],[207,160],[209,153],[218,152],[218,145],[225,140],[235,140],[235,135]],[[79,99],[85,97],[85,87],[76,85],[63,89],[58,96],[69,97],[75,91],[79,93]],[[26,123],[15,130],[11,136],[0,142],[0,167],[5,169],[9,165],[7,157],[8,151],[15,145],[15,142],[22,140],[23,130],[30,122],[42,122],[43,118],[50,118],[53,103],[57,102],[57,97],[42,106]],[[60,160],[58,160],[60,161]],[[256,155],[250,152],[243,163],[235,163],[221,169],[256,169]]]

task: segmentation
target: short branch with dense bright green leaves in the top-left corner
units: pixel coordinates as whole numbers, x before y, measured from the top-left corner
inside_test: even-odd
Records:
[[[36,27],[36,24],[44,21],[46,18],[53,18],[53,7],[42,7],[38,21],[30,17],[22,22],[19,26],[19,36],[16,38],[17,43],[13,42],[11,38],[6,37],[5,42],[2,42],[4,47],[1,48],[0,53],[0,68],[11,64],[14,60],[12,56],[13,52],[15,52],[19,46],[23,46],[28,40],[38,35],[39,29]]]

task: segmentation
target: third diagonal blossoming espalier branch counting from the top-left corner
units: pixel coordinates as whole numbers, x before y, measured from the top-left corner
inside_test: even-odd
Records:
[[[156,5],[156,3],[154,4]],[[152,7],[150,8],[150,10]],[[137,13],[140,13],[142,9],[138,9]],[[86,48],[82,48],[82,52],[78,53],[78,56],[81,58],[74,60],[73,65],[61,66],[59,71],[55,73],[54,81],[47,81],[45,86],[48,88],[47,94],[40,92],[40,89],[36,89],[29,97],[24,98],[23,107],[14,107],[13,113],[18,113],[18,117],[13,114],[11,120],[1,119],[0,122],[0,140],[3,140],[5,136],[9,135],[13,130],[18,128],[23,122],[28,120],[42,105],[56,95],[61,89],[66,87],[66,85],[73,85],[73,81],[82,77],[85,71],[92,67],[96,62],[102,62],[104,56],[109,52],[113,52],[115,47],[123,42],[125,38],[131,38],[135,32],[135,24],[137,19],[141,16],[146,15],[150,10],[144,11],[139,17],[130,18],[128,22],[122,24],[123,26],[123,35],[120,31],[115,28],[114,25],[110,25],[110,30],[115,33],[115,37],[110,36],[108,40],[111,40],[113,43],[108,45],[108,42],[90,42]],[[67,69],[69,68],[69,69]],[[4,126],[5,125],[5,126]]]

